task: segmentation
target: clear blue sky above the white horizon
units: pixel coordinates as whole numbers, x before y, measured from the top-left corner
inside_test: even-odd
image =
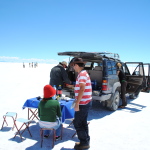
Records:
[[[149,62],[150,0],[0,0],[0,61],[57,63],[57,52]]]

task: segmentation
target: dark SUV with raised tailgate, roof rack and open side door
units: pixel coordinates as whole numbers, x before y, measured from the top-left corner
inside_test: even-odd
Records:
[[[73,84],[75,84],[77,73],[74,71],[70,63],[75,57],[80,57],[86,62],[85,70],[89,73],[92,81],[92,99],[102,102],[103,105],[110,110],[116,110],[120,102],[121,84],[117,75],[117,62],[122,63],[122,69],[125,71],[128,82],[127,93],[130,94],[131,98],[138,96],[141,89],[146,88],[144,66],[141,62],[136,63],[137,67],[131,74],[131,68],[130,66],[128,67],[128,63],[121,62],[119,55],[116,53],[59,52],[58,55],[72,57],[72,59],[69,59],[70,62],[66,71]],[[65,88],[64,92],[67,90],[70,92],[71,96],[73,91]]]

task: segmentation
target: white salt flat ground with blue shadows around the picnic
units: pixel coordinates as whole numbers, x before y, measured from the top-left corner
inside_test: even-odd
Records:
[[[22,67],[21,63],[0,63],[0,124],[3,115],[17,112],[18,118],[27,118],[27,109],[22,109],[26,99],[42,96],[43,86],[49,83],[49,73],[54,64],[39,64],[37,68]],[[99,102],[93,102],[89,112],[89,129],[91,150],[149,150],[150,143],[150,94],[140,93],[135,100],[128,100],[125,109],[109,111]],[[8,118],[8,127],[0,131],[0,150],[37,150],[51,149],[51,139],[44,139],[40,148],[38,121],[30,125],[33,137],[27,132],[25,140],[13,139],[16,132],[11,130],[12,120]],[[77,137],[73,125],[68,128],[70,120],[64,124],[63,140],[55,142],[53,150],[71,150]]]

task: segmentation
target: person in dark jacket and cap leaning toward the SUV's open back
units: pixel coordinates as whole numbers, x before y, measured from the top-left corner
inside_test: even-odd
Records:
[[[61,85],[63,88],[64,83],[71,84],[65,68],[67,68],[67,62],[62,61],[51,69],[49,83],[51,86],[56,85],[56,88],[58,88],[58,86]]]

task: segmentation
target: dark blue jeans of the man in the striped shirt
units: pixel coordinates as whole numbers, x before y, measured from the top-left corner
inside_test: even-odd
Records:
[[[87,105],[79,105],[79,111],[76,111],[74,116],[73,124],[81,145],[89,145],[90,141],[89,129],[87,124],[89,107],[90,103],[88,103]]]

